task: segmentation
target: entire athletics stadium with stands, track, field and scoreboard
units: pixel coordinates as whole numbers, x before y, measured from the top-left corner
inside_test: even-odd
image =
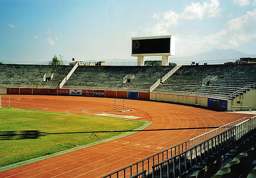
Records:
[[[13,126],[1,131],[2,150],[12,150],[11,141],[14,145],[23,141],[26,147],[16,156],[17,150],[1,153],[5,160],[0,177],[254,177],[256,63],[235,59],[169,65],[172,39],[132,39],[136,65],[0,64],[0,111],[13,116]],[[157,48],[145,50],[154,40],[159,42]],[[162,56],[162,65],[145,66],[144,56]],[[15,108],[37,113],[25,113],[24,121],[15,121],[25,112]],[[42,124],[45,127],[39,121],[29,125],[33,118],[28,115],[44,121],[44,113],[66,113],[58,118],[69,119],[54,123],[52,115]],[[97,120],[92,125],[83,123],[87,119],[73,120],[84,115]],[[100,130],[96,116],[119,118],[136,127],[112,127],[118,122],[114,120]],[[74,123],[80,130],[70,127]],[[15,130],[22,124],[25,127]],[[46,130],[52,126],[55,132]],[[65,138],[57,140],[57,135]],[[50,139],[50,149],[29,157],[44,146],[40,142],[44,138]],[[68,142],[73,148],[62,149]],[[61,149],[54,151],[56,147]]]

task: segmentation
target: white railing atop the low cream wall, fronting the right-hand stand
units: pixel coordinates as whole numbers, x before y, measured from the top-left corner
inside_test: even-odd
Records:
[[[163,93],[163,94],[174,94],[174,95],[185,95],[185,96],[199,96],[205,98],[225,99],[228,100],[227,95],[214,94],[214,93],[199,93],[190,91],[173,91],[173,90],[153,90],[151,93]]]

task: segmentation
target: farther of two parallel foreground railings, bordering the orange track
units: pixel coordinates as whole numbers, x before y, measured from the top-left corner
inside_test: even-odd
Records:
[[[220,137],[221,134],[223,134],[224,132],[227,132],[228,130],[231,130],[232,128],[235,128],[236,125],[239,125],[240,123],[243,123],[244,121],[248,121],[248,120],[251,120],[250,121],[251,124],[254,123],[254,124],[252,124],[253,127],[251,127],[251,128],[255,128],[256,127],[256,116],[254,116],[251,119],[248,119],[248,117],[244,117],[237,121],[233,121],[229,124],[225,124],[224,126],[218,127],[217,129],[212,130],[212,132],[210,131],[210,132],[201,134],[200,136],[192,138],[188,141],[185,141],[185,142],[178,144],[174,147],[171,147],[167,150],[163,150],[160,153],[154,154],[148,158],[143,159],[142,161],[131,164],[130,166],[125,167],[116,172],[113,172],[109,175],[106,175],[103,178],[111,178],[111,177],[117,177],[117,178],[124,177],[125,178],[125,177],[130,177],[134,174],[137,174],[143,170],[146,170],[149,174],[150,172],[154,171],[154,169],[156,167],[158,167],[158,166],[160,167],[161,166],[160,163],[165,163],[166,161],[176,158],[177,156],[180,156],[180,154],[184,154],[187,151],[189,151],[188,154],[190,154],[192,156],[193,154],[190,153],[190,150],[194,149],[196,144],[204,144],[204,142],[206,142],[208,140],[212,140],[213,138],[218,138],[214,142],[204,145],[204,147],[206,147],[209,150],[212,145],[215,145],[217,143],[217,141],[224,139],[223,136]],[[224,133],[224,134],[226,134],[226,133]],[[212,136],[212,137],[209,138],[209,136]],[[200,137],[200,139],[199,139],[199,137]],[[201,139],[201,138],[205,138],[205,139]],[[228,137],[228,138],[230,139],[230,137]],[[223,145],[222,145],[222,147],[223,147]],[[196,147],[196,150],[198,151],[198,146]],[[195,150],[194,150],[194,152],[195,152]],[[191,158],[190,155],[188,158]],[[194,155],[195,155],[195,153],[194,153]],[[165,176],[162,175],[162,177],[165,177]]]

